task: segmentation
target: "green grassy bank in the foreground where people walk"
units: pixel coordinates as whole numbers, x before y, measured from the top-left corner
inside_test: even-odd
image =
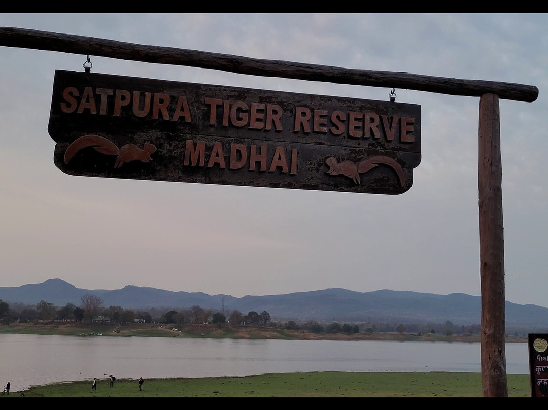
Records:
[[[508,375],[510,397],[530,397],[528,375]],[[479,373],[283,373],[247,377],[100,380],[36,386],[25,397],[481,397]],[[8,397],[8,396],[3,396]],[[21,397],[12,392],[9,397]]]

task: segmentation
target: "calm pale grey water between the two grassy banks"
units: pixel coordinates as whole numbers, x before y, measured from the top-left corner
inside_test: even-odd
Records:
[[[506,344],[507,373],[529,374],[526,343]],[[293,372],[481,372],[479,343],[235,340],[0,334],[0,384]],[[107,382],[103,382],[107,385]]]

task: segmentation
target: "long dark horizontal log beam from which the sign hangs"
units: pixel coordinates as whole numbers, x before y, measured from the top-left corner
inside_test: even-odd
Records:
[[[535,101],[539,90],[523,84],[416,75],[406,72],[345,69],[300,62],[260,60],[173,47],[124,43],[95,37],[0,27],[0,45],[61,53],[95,55],[121,60],[152,62],[222,70],[239,74],[304,79],[370,87],[403,88],[430,93]]]

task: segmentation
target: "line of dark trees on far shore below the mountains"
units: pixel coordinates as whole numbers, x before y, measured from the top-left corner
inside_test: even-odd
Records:
[[[81,297],[81,303],[75,305],[67,303],[65,306],[54,306],[41,300],[36,305],[12,303],[0,300],[0,323],[32,321],[76,321],[94,322],[108,320],[113,323],[169,323],[169,324],[226,324],[227,326],[263,326],[276,329],[304,331],[311,333],[412,333],[439,335],[478,335],[479,323],[454,324],[450,321],[443,323],[398,323],[383,321],[367,322],[328,322],[315,320],[272,321],[266,310],[261,312],[249,311],[247,314],[234,309],[227,312],[205,309],[195,305],[190,308],[149,308],[124,309],[122,306],[104,306],[102,300],[95,295],[86,294]],[[506,326],[510,336],[524,337],[527,333],[545,333],[546,328],[524,328]]]

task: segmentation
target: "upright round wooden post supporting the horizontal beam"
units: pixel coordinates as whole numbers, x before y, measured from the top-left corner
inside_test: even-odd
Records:
[[[499,96],[479,99],[479,260],[483,396],[507,397]]]

